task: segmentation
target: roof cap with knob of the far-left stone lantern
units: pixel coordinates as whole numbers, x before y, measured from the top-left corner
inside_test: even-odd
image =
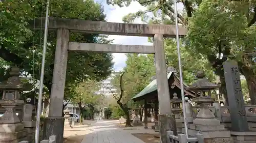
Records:
[[[11,67],[9,74],[11,77],[0,83],[0,90],[23,90],[23,84],[19,78],[19,68]]]

